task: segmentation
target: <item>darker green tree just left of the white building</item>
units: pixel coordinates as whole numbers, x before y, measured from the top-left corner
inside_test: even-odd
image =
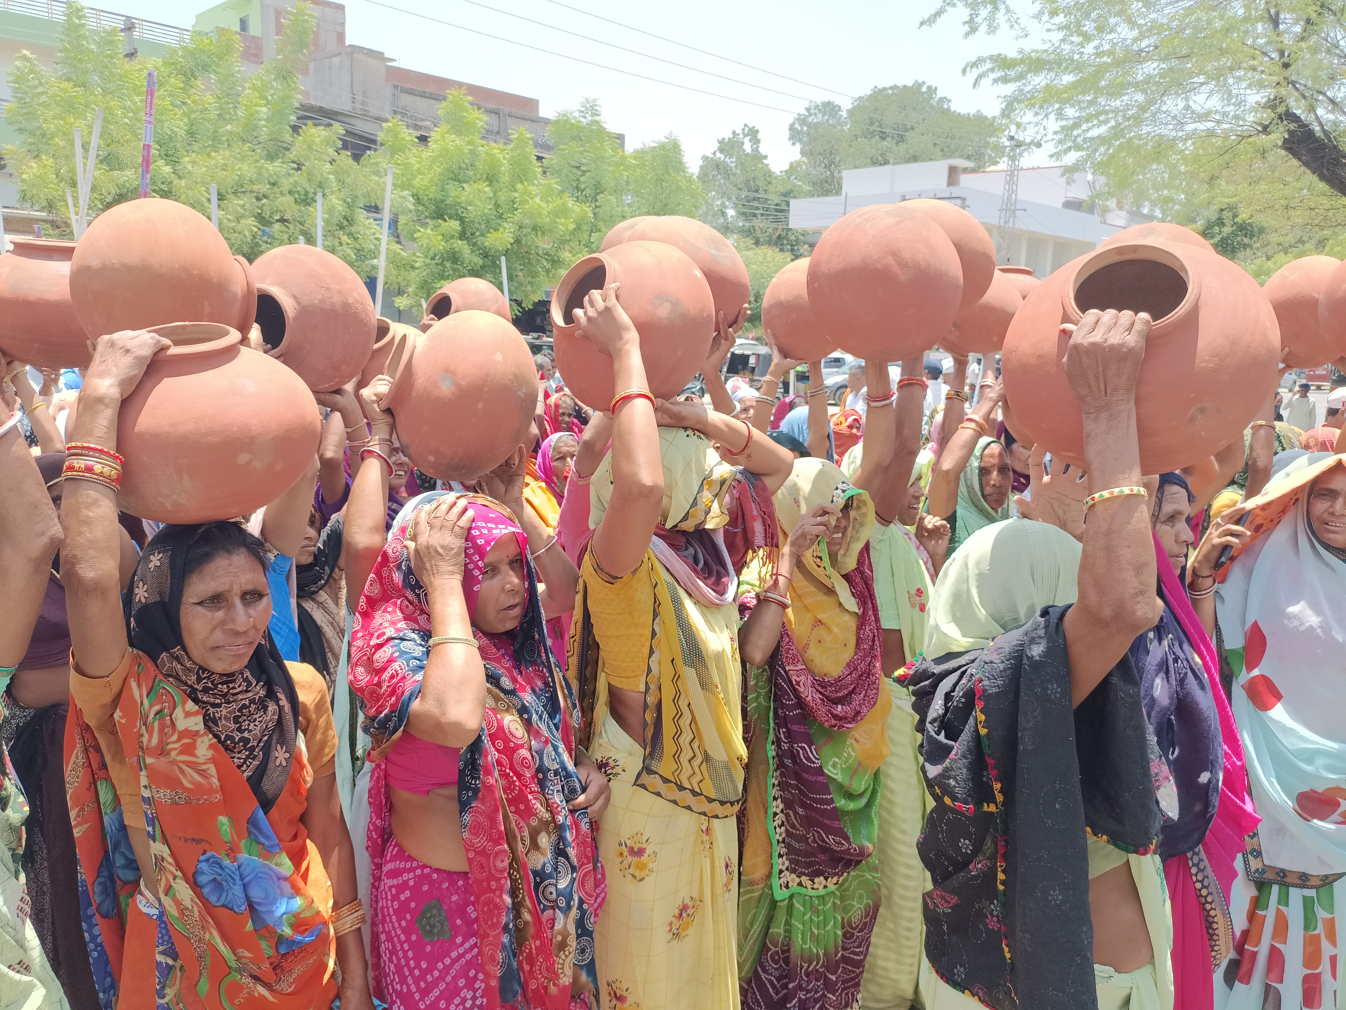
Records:
[[[805,232],[790,228],[790,198],[809,195],[787,172],[777,172],[762,154],[756,127],[720,137],[715,154],[701,158],[697,172],[705,189],[703,220],[732,238],[770,245],[795,256],[808,253]]]

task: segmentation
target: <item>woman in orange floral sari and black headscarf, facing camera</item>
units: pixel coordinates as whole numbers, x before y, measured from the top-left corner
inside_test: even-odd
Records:
[[[369,1010],[327,691],[264,634],[260,541],[232,521],[164,527],[122,610],[117,413],[164,346],[143,330],[97,341],[61,505],[66,786],[94,980],[127,1007],[191,987],[221,1010],[338,995]]]

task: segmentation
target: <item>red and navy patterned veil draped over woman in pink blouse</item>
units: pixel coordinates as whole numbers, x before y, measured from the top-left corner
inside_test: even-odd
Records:
[[[398,517],[351,633],[350,683],[376,762],[369,828],[376,893],[380,854],[392,838],[382,758],[406,723],[429,656],[425,590],[402,545],[416,510],[440,494],[416,498]],[[471,502],[513,525],[499,502],[479,496]],[[474,533],[476,527],[474,521]],[[573,699],[546,645],[532,558],[528,582],[529,606],[513,642],[509,636],[476,633],[486,664],[486,714],[481,735],[462,751],[458,778],[491,1010],[564,1010],[572,991],[598,992],[594,924],[607,893],[588,811],[567,809],[584,792],[571,758]],[[377,951],[376,940],[376,990],[381,979]]]

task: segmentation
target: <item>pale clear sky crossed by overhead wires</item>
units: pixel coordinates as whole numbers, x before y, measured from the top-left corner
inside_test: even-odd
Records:
[[[962,66],[987,53],[1016,48],[1015,39],[1008,35],[964,39],[957,15],[945,16],[933,28],[921,28],[922,16],[935,7],[935,0],[564,3],[588,13],[567,9],[553,0],[388,0],[388,5],[346,0],[346,40],[382,50],[413,70],[538,98],[544,116],[573,108],[583,98],[598,98],[604,121],[610,129],[626,135],[627,148],[673,133],[682,141],[692,171],[700,166],[701,155],[713,149],[717,137],[744,123],[760,129],[771,166],[783,168],[798,154],[787,136],[790,120],[808,101],[835,100],[845,108],[847,96],[859,96],[875,86],[919,79],[935,85],[960,112],[993,114],[1000,108],[997,89],[991,85],[973,88]],[[118,9],[190,27],[197,9],[206,5],[198,8],[183,0],[120,0]],[[795,79],[775,77],[758,67],[770,67]],[[730,97],[700,94],[619,70]]]

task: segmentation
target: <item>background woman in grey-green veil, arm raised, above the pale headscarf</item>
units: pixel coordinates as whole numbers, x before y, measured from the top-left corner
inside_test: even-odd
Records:
[[[949,431],[948,426],[961,411],[946,408],[942,415],[945,444],[930,471],[926,512],[942,518],[953,531],[949,537],[950,558],[983,527],[1010,518],[1010,492],[1014,486],[1010,454],[1003,443],[987,436],[987,431],[995,427],[996,408],[1003,399],[1004,385],[997,380],[956,430]],[[961,401],[957,407],[962,407]]]

